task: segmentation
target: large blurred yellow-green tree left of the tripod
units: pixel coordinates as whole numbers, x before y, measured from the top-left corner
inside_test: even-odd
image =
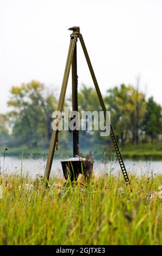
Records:
[[[8,106],[13,107],[10,118],[13,120],[13,136],[20,144],[46,145],[51,138],[52,112],[57,100],[46,93],[45,86],[37,81],[23,83],[11,88]]]

